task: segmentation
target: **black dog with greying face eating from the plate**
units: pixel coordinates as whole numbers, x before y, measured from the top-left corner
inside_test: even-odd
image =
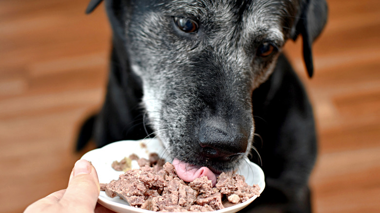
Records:
[[[91,0],[86,12],[101,1]],[[107,93],[82,125],[77,150],[91,139],[101,147],[154,135],[184,173],[205,168],[210,176],[247,156],[262,163],[266,189],[242,212],[311,212],[313,110],[282,49],[302,37],[312,76],[325,0],[105,4],[113,30]]]

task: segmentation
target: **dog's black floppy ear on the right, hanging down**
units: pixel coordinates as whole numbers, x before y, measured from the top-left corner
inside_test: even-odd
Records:
[[[305,0],[301,5],[301,16],[296,20],[293,40],[299,34],[303,38],[304,62],[309,77],[313,76],[314,66],[311,51],[313,41],[321,34],[327,20],[327,3],[325,0]]]

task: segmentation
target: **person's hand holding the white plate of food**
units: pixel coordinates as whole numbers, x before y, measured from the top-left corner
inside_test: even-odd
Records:
[[[71,172],[69,185],[34,202],[24,213],[112,213],[97,204],[100,187],[94,166],[78,160]]]

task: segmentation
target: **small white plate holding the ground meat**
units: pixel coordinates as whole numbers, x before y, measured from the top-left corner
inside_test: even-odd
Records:
[[[114,160],[121,160],[133,153],[140,158],[148,159],[149,153],[152,152],[157,153],[165,160],[172,160],[170,157],[165,155],[166,152],[162,147],[161,142],[157,139],[120,141],[110,143],[102,148],[89,151],[83,155],[81,159],[91,161],[96,169],[97,175],[99,177],[99,182],[109,183],[113,179],[118,179],[119,175],[123,173],[115,171],[111,167],[111,164]],[[132,168],[139,168],[136,160],[133,160],[132,162]],[[263,192],[265,187],[264,172],[258,165],[252,163],[249,160],[246,160],[246,162],[240,165],[237,173],[246,177],[246,182],[249,185],[258,184],[260,186],[260,194]],[[257,196],[253,196],[246,202],[225,209],[217,210],[212,213],[235,213],[246,207],[249,203],[256,199],[256,197]],[[152,211],[149,210],[129,206],[126,201],[120,199],[119,197],[111,198],[107,196],[105,192],[100,192],[98,202],[104,207],[117,213],[152,213]]]

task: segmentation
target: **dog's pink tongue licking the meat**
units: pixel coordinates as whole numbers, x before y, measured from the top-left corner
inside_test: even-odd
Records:
[[[195,178],[206,176],[212,182],[212,186],[216,184],[216,176],[215,174],[207,167],[198,167],[186,163],[182,160],[174,159],[173,165],[175,170],[177,171],[177,175],[179,178],[186,182],[191,182]]]

